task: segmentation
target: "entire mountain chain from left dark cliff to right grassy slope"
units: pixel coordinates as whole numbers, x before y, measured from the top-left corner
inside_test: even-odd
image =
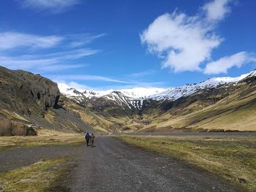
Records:
[[[256,131],[255,116],[256,71],[178,88],[86,91],[0,67],[0,135],[29,124],[108,133]],[[11,128],[1,128],[9,121]]]

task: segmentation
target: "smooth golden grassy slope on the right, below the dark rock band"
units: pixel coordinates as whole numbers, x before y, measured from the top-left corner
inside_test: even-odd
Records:
[[[152,119],[151,124],[144,126],[140,131],[152,127],[256,131],[256,91],[249,92],[248,88],[249,85],[245,85],[217,103],[187,115],[172,116],[166,112],[159,118]]]

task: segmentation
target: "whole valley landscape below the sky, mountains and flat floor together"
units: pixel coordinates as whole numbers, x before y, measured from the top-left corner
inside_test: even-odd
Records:
[[[255,71],[143,93],[0,74],[0,191],[255,191]]]

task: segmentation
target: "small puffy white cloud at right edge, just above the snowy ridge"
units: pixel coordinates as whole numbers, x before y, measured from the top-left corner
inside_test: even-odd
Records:
[[[246,52],[239,52],[231,56],[225,56],[224,58],[219,58],[217,61],[213,61],[206,65],[204,73],[206,74],[219,74],[227,73],[227,69],[236,66],[240,68],[244,64],[250,62],[255,62],[256,58]]]

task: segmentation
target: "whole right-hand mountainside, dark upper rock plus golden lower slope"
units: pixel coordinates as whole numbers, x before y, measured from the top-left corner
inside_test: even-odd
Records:
[[[145,112],[149,123],[139,131],[256,131],[256,72],[236,82],[162,102],[154,115],[150,106]]]

